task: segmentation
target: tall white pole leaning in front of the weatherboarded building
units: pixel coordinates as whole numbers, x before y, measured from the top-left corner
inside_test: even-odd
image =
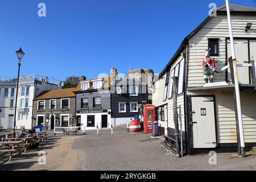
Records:
[[[240,131],[240,142],[241,144],[241,156],[245,158],[245,139],[243,136],[243,121],[242,121],[242,109],[241,109],[241,98],[240,98],[240,88],[237,76],[237,63],[236,63],[236,51],[234,47],[234,38],[233,38],[233,31],[232,31],[232,22],[230,16],[230,9],[229,9],[229,1],[226,0],[226,12],[228,14],[228,22],[229,22],[229,35],[230,35],[230,45],[233,57],[233,69],[234,69],[234,85],[235,85],[235,92],[236,92],[236,102],[237,102],[237,115],[238,115],[238,123],[239,123],[239,131]]]

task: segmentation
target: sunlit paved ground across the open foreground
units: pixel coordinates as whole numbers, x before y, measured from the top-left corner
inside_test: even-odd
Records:
[[[218,154],[217,165],[206,154],[177,159],[151,135],[130,134],[119,127],[96,135],[51,137],[39,150],[0,159],[0,170],[255,170],[256,155]],[[46,152],[46,165],[38,164],[38,151]]]

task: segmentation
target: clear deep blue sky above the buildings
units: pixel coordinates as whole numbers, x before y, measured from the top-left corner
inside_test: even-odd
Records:
[[[38,4],[47,17],[39,18]],[[26,53],[21,74],[97,77],[152,68],[160,73],[181,41],[225,0],[0,0],[0,76],[16,76],[15,51]],[[256,7],[256,0],[236,1]]]

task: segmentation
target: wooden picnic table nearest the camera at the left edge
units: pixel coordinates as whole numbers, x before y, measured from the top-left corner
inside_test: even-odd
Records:
[[[9,162],[11,161],[11,158],[13,157],[13,153],[19,152],[19,155],[21,154],[22,148],[20,148],[20,144],[22,144],[22,141],[11,141],[11,142],[0,142],[0,153],[9,153],[10,152],[10,158]]]

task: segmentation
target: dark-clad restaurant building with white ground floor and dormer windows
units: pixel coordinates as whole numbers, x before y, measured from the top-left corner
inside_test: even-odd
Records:
[[[77,126],[85,130],[110,128],[110,77],[86,80],[82,76],[80,84],[80,90],[75,92]]]

